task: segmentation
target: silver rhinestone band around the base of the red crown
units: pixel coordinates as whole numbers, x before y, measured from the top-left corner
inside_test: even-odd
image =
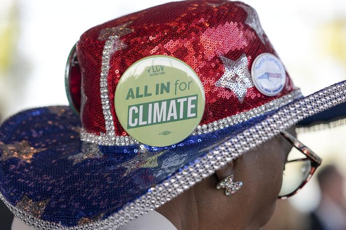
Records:
[[[210,122],[208,124],[198,125],[196,130],[191,135],[201,135],[203,133],[209,133],[216,130],[220,130],[226,128],[228,126],[232,126],[243,121],[246,121],[250,118],[263,115],[266,112],[276,110],[295,99],[302,97],[302,93],[300,89],[296,89],[289,94],[286,94],[282,97],[279,97],[271,102],[263,104],[254,109],[242,112],[240,114],[232,115],[225,117],[223,119],[219,119],[217,121]],[[110,112],[109,112],[110,113]],[[108,116],[107,116],[108,117]],[[105,116],[106,118],[106,116]],[[106,120],[106,123],[113,122],[112,117],[110,116],[109,120]],[[112,123],[113,124],[113,123]],[[114,126],[113,126],[114,127]],[[113,132],[114,133],[114,132]],[[116,146],[126,146],[131,144],[138,144],[134,138],[130,136],[112,136],[110,135],[96,135],[93,133],[88,133],[84,129],[81,130],[80,138],[82,141],[100,144],[100,145],[116,145]]]

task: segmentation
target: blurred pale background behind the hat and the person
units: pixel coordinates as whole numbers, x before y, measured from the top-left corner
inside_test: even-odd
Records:
[[[105,21],[165,2],[1,0],[0,120],[27,108],[68,104],[65,64],[79,36]],[[263,29],[305,95],[346,79],[345,0],[244,2],[257,10]],[[345,224],[345,207],[330,198],[338,197],[339,203],[345,203],[345,131],[346,126],[340,126],[299,134],[298,138],[323,158],[319,171],[325,168],[325,172],[318,177],[321,186],[314,176],[296,196],[279,201],[266,230],[309,229],[314,217],[323,216],[325,210],[319,209],[327,201],[324,206],[331,211],[323,218]],[[9,229],[11,213],[0,205],[1,229]]]

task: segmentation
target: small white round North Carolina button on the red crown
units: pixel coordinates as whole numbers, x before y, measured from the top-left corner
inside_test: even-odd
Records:
[[[261,93],[275,96],[285,86],[286,71],[277,57],[263,53],[252,63],[251,77],[253,84]]]

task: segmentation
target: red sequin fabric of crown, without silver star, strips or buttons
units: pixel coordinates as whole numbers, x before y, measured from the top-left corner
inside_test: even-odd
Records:
[[[220,56],[237,60],[245,54],[248,69],[262,53],[277,56],[262,29],[252,28],[242,2],[191,0],[170,2],[129,14],[86,31],[77,46],[78,61],[86,101],[82,112],[87,132],[105,133],[105,120],[100,97],[100,74],[105,40],[104,33],[120,31],[117,47],[110,59],[107,76],[108,97],[113,115],[115,134],[127,135],[120,125],[114,108],[114,93],[125,70],[134,62],[151,55],[179,58],[198,74],[205,89],[206,109],[201,124],[235,115],[281,97],[294,89],[286,74],[283,90],[276,96],[266,96],[256,87],[247,88],[239,101],[227,87],[215,83],[225,72]],[[250,8],[250,10],[253,10]],[[257,16],[252,14],[251,16]],[[125,25],[124,28],[119,26]],[[257,23],[257,26],[259,23]],[[264,42],[263,42],[264,41]]]

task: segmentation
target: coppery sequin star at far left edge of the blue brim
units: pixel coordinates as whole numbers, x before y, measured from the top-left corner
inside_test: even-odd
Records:
[[[46,148],[32,147],[27,140],[15,142],[13,144],[4,144],[0,142],[0,149],[2,151],[0,161],[16,157],[26,163],[31,163],[34,154],[46,150]]]

